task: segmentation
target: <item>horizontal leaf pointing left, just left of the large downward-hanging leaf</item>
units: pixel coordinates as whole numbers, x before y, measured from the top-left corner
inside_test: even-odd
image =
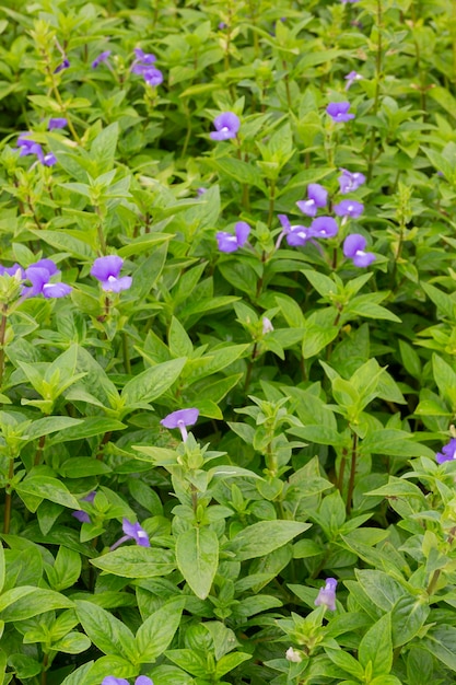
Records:
[[[167,576],[176,568],[172,552],[138,545],[115,549],[91,559],[91,564],[122,578],[156,578]]]

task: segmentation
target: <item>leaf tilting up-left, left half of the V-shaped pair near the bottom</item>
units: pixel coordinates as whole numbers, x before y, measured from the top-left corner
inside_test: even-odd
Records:
[[[78,600],[75,609],[87,637],[102,652],[136,662],[138,653],[133,634],[121,620],[92,602]]]

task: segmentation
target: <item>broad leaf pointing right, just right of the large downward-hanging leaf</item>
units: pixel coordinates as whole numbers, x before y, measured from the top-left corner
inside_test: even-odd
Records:
[[[237,533],[225,549],[235,554],[236,561],[264,557],[309,527],[297,521],[259,521]]]

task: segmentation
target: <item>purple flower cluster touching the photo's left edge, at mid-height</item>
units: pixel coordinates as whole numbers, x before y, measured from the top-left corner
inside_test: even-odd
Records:
[[[4,274],[8,276],[19,275],[20,279],[25,281],[21,290],[21,295],[24,299],[36,298],[37,295],[43,295],[47,300],[63,298],[72,290],[71,286],[67,283],[51,282],[51,278],[60,274],[52,259],[39,259],[26,269],[23,269],[19,264],[13,264],[10,267],[0,265],[0,276]],[[27,282],[31,285],[26,285]]]

